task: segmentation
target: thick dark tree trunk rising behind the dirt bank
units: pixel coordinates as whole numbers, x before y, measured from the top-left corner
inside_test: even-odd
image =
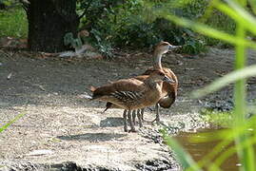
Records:
[[[64,36],[76,37],[79,19],[76,0],[30,0],[28,46],[33,51],[58,52],[67,49]]]

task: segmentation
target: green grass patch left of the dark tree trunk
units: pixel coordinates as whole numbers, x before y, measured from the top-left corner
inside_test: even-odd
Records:
[[[0,30],[0,37],[26,38],[28,21],[25,10],[21,8],[0,10]]]

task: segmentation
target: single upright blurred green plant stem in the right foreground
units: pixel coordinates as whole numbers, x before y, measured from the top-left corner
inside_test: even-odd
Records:
[[[236,36],[238,39],[244,39],[246,37],[246,28],[243,23],[237,23]],[[246,66],[246,47],[243,45],[236,45],[235,51],[235,69],[244,68]],[[241,128],[246,125],[246,79],[241,79],[235,83],[234,101],[235,121],[233,131],[236,131],[237,127]],[[249,144],[247,144],[245,148],[241,148],[242,142],[245,142],[248,138],[249,136],[245,131],[244,134],[235,138],[235,142],[238,156],[243,163],[240,170],[249,171],[254,168],[253,148]]]

